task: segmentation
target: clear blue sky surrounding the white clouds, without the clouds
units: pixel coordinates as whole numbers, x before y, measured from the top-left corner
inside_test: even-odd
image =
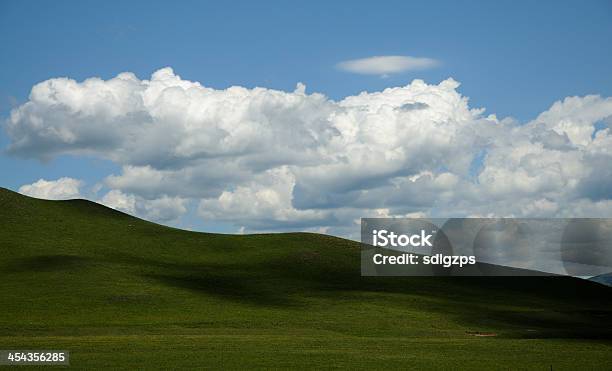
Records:
[[[165,66],[216,89],[232,85],[340,100],[361,91],[452,77],[470,107],[499,118],[535,118],[568,96],[612,95],[610,1],[0,3],[0,114],[38,82],[70,77],[141,79]],[[341,61],[371,56],[433,58],[435,68],[359,75]],[[0,132],[0,145],[10,139]],[[0,156],[0,184],[39,178],[90,184],[121,166],[62,154],[49,162]]]

